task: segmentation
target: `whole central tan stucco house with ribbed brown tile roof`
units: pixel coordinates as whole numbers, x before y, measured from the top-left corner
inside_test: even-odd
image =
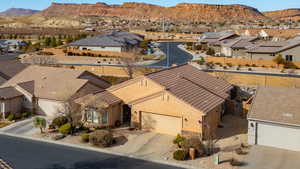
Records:
[[[99,116],[107,112],[104,117],[113,118],[104,118],[110,125],[131,122],[132,127],[158,133],[208,138],[214,136],[232,90],[226,81],[186,64],[137,77],[78,102],[96,125],[103,125]]]

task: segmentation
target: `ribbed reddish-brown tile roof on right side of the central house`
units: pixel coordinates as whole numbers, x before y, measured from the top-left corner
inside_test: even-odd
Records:
[[[233,88],[228,82],[189,64],[150,73],[146,77],[203,113],[224,102]]]

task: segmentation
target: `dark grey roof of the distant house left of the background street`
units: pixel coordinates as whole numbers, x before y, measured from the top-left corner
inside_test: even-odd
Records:
[[[111,32],[81,39],[70,43],[69,46],[126,47],[136,46],[143,40],[144,36],[136,33]]]

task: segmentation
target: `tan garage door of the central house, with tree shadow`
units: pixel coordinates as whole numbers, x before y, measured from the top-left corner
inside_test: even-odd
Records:
[[[182,118],[142,112],[142,128],[175,136],[181,133]]]

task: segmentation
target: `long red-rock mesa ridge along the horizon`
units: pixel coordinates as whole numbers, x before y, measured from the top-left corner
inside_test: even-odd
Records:
[[[146,3],[127,2],[122,5],[52,3],[40,12],[46,17],[57,16],[117,16],[124,19],[176,21],[257,21],[265,17],[257,9],[245,5],[213,5],[180,3],[163,7]]]

